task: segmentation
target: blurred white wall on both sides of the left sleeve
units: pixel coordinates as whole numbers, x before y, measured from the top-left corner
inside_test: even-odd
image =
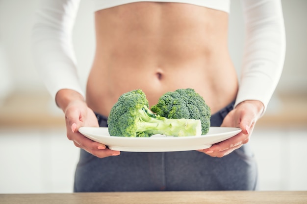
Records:
[[[34,67],[31,54],[31,29],[39,0],[0,0],[0,75],[10,79],[7,89],[45,91]],[[83,0],[73,36],[81,83],[86,77],[94,54],[92,1]],[[2,66],[6,62],[6,66]],[[5,69],[5,70],[4,70]],[[2,84],[0,84],[2,86]]]

